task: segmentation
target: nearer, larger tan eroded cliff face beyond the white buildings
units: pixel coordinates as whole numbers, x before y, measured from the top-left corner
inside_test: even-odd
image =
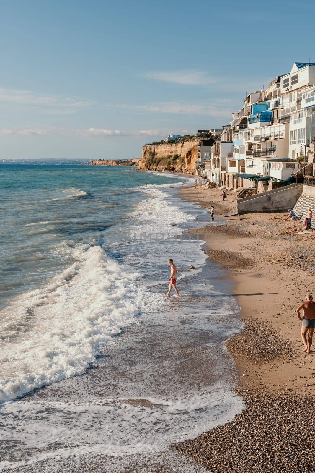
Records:
[[[180,143],[147,145],[142,148],[139,169],[143,171],[171,171],[195,174],[195,161],[198,157],[198,140]]]

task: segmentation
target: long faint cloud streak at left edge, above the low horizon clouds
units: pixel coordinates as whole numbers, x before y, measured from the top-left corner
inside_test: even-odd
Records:
[[[72,97],[45,95],[31,90],[11,90],[0,87],[0,102],[19,106],[36,107],[47,114],[73,114],[93,105]]]

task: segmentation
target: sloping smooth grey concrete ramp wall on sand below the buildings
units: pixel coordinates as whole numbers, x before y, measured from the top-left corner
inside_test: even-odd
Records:
[[[238,215],[251,212],[281,212],[293,209],[302,193],[302,187],[302,184],[290,184],[272,191],[238,199]]]

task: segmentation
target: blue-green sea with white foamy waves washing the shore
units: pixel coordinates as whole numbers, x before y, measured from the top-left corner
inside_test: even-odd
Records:
[[[244,408],[207,210],[192,177],[82,164],[0,164],[0,472],[205,472],[170,445]]]

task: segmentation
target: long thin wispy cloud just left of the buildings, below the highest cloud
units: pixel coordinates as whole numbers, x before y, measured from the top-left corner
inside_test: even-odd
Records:
[[[118,108],[139,110],[144,112],[156,112],[164,114],[184,114],[184,115],[210,115],[214,117],[230,117],[231,108],[223,108],[213,103],[187,104],[179,102],[151,102],[146,105],[109,105]]]

